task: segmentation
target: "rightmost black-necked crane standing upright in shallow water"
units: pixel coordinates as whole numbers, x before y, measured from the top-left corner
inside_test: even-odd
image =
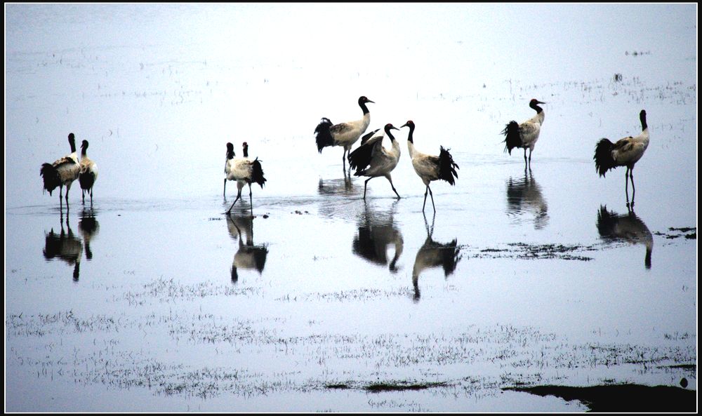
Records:
[[[631,196],[631,205],[634,205],[634,196],[636,188],[634,187],[634,165],[641,156],[644,156],[646,148],[649,147],[649,126],[646,123],[646,110],[642,109],[639,113],[641,121],[641,134],[636,137],[624,137],[612,143],[607,137],[603,137],[597,142],[595,147],[595,169],[600,176],[604,177],[607,170],[617,168],[618,166],[626,166],[624,173],[625,192],[627,204],[629,201],[629,178],[631,178],[631,187],[633,193]]]

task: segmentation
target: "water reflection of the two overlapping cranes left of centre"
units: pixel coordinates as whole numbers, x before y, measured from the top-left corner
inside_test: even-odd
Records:
[[[263,273],[268,247],[253,244],[253,218],[250,216],[227,215],[227,229],[232,239],[239,239],[239,250],[232,260],[232,282],[239,280],[239,269],[256,270]],[[242,234],[243,230],[243,234]],[[246,243],[244,243],[246,239]]]

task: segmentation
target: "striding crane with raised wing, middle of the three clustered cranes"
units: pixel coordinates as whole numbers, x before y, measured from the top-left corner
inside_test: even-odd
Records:
[[[363,199],[366,199],[368,181],[378,176],[384,176],[390,182],[390,187],[397,195],[397,199],[400,198],[395,185],[392,184],[392,176],[390,176],[390,172],[395,169],[399,161],[399,143],[395,140],[395,136],[392,135],[390,130],[399,130],[399,128],[392,126],[392,123],[385,124],[383,133],[370,137],[349,154],[349,168],[356,169],[354,175],[369,177],[366,179],[363,187]],[[390,149],[383,147],[383,137],[385,135],[390,137],[390,143],[392,144]]]

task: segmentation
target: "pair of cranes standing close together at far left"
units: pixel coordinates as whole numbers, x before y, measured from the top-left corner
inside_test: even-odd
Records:
[[[98,179],[98,165],[88,159],[88,140],[81,143],[81,159],[78,160],[76,154],[76,138],[73,133],[68,135],[68,143],[71,146],[71,153],[54,161],[41,165],[39,175],[44,180],[44,191],[51,195],[54,189],[59,188],[58,201],[60,208],[63,208],[62,194],[63,187],[66,187],[66,209],[68,210],[68,192],[74,180],[78,180],[85,203],[86,193],[90,194],[90,202],[93,204],[93,185]]]

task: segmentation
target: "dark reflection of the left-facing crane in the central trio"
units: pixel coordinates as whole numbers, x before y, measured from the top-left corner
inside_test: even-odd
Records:
[[[435,214],[436,215],[436,214]],[[432,220],[431,231],[427,222],[427,217],[424,217],[424,225],[427,229],[427,239],[423,246],[417,251],[414,257],[414,267],[412,268],[412,285],[414,286],[414,298],[417,302],[420,298],[419,292],[419,276],[425,269],[434,267],[442,267],[444,276],[449,277],[456,270],[456,264],[461,261],[461,248],[456,244],[456,239],[450,243],[437,243],[433,239],[434,222]]]

